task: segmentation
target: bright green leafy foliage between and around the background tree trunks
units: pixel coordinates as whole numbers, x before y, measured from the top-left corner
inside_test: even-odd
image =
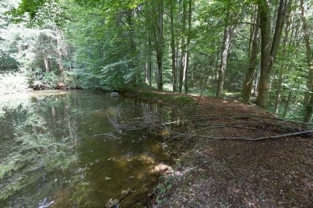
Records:
[[[70,87],[122,90],[125,85],[140,86],[145,82],[151,82],[152,86],[157,84],[156,51],[159,51],[163,55],[163,84],[172,89],[174,72],[171,68],[171,39],[174,38],[176,77],[179,77],[181,61],[184,60],[183,40],[185,38],[186,42],[186,38],[190,37],[189,74],[185,76],[189,89],[199,92],[205,88],[208,92],[215,92],[221,62],[223,28],[232,24],[235,30],[224,81],[227,92],[240,92],[248,67],[257,2],[192,1],[191,28],[182,23],[184,15],[189,17],[189,1],[164,1],[164,4],[159,4],[160,2],[163,1],[32,0],[21,1],[18,6],[17,1],[1,1],[0,70],[16,70],[19,67],[19,70],[28,71],[32,75],[32,70],[43,69],[40,78],[31,77],[31,84],[46,86],[46,89],[53,89],[55,83],[62,82]],[[275,13],[277,2],[270,4],[270,12]],[[309,3],[304,1],[304,4]],[[161,8],[157,8],[161,5],[164,7],[162,27],[158,18]],[[292,26],[287,38],[289,43],[280,44],[275,63],[277,70],[271,75],[271,90],[275,92],[280,70],[288,69],[284,72],[285,85],[282,89],[284,104],[288,87],[292,85],[297,71],[301,70],[299,82],[294,86],[297,96],[291,99],[289,110],[295,109],[298,103],[303,103],[309,75],[305,44],[299,35],[301,33],[295,31],[302,28],[302,22],[298,15],[299,6],[294,2],[292,10],[297,15],[291,20]],[[16,21],[28,17],[32,23],[41,25],[41,28],[25,28],[26,24],[22,22],[18,26],[12,26],[8,23],[8,17],[3,15],[6,11],[11,11]],[[230,11],[228,19],[226,11]],[[58,26],[62,23],[63,31],[55,23]],[[174,31],[171,31],[171,23]],[[271,27],[275,28],[275,21],[271,20],[271,23]],[[309,6],[307,27],[312,28],[312,8]],[[158,31],[160,28],[162,31]],[[163,37],[158,38],[157,34],[162,34]],[[49,62],[48,69],[45,58]],[[260,53],[257,69],[259,65]],[[255,72],[254,84],[257,84],[258,73]],[[238,99],[237,96],[233,98]],[[165,97],[158,99],[171,100]],[[275,95],[272,94],[270,104],[274,103]]]

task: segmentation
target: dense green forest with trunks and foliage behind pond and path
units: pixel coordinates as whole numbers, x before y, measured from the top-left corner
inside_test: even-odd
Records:
[[[2,0],[0,93],[159,90],[312,120],[312,1]]]

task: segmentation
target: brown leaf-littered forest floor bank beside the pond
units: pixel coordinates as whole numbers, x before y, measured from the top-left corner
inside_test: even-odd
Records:
[[[188,129],[171,132],[179,158],[159,182],[152,204],[312,207],[312,132],[300,134],[307,130],[256,106],[190,97],[198,105]]]

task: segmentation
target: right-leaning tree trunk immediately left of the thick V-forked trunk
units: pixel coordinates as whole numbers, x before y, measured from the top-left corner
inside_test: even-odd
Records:
[[[241,97],[243,103],[249,103],[251,97],[251,91],[253,87],[253,79],[255,77],[255,68],[257,65],[258,49],[260,45],[260,14],[257,14],[256,26],[253,29],[253,37],[250,48],[250,60],[247,72],[245,73],[245,80],[243,80],[243,91]]]

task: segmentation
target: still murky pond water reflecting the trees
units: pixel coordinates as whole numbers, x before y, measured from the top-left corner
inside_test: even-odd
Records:
[[[1,97],[0,207],[132,207],[147,199],[170,159],[161,135],[130,121],[155,111],[157,104],[86,90]]]

